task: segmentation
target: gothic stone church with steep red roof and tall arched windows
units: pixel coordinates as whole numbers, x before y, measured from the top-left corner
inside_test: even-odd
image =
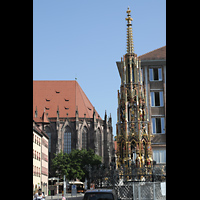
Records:
[[[76,80],[33,81],[33,120],[49,136],[49,177],[54,153],[91,148],[106,165],[114,158],[111,115],[102,119]]]

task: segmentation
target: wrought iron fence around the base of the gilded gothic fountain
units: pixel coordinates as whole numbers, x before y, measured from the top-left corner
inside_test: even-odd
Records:
[[[153,165],[151,168],[120,169],[96,168],[90,172],[89,182],[95,188],[114,189],[120,199],[134,200],[164,200],[164,187],[166,182],[166,165]],[[164,188],[164,189],[163,189]]]

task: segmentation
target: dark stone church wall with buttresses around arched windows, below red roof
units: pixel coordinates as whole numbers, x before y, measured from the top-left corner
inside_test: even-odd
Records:
[[[51,144],[49,145],[51,152],[49,153],[49,177],[55,176],[51,168],[51,160],[55,157],[56,153],[64,152],[64,133],[69,126],[71,130],[71,150],[82,149],[82,131],[84,127],[87,129],[87,150],[93,149],[97,155],[102,157],[102,162],[109,165],[112,161],[113,151],[113,134],[112,124],[105,120],[92,118],[66,118],[56,121],[55,118],[49,118],[49,124],[43,124],[43,129],[47,134],[51,133]],[[97,130],[101,134],[101,142],[97,136]],[[101,147],[99,147],[101,145]],[[101,153],[99,152],[101,149]],[[49,150],[48,150],[49,151]]]

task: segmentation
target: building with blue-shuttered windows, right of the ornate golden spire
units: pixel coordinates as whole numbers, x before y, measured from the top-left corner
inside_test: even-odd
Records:
[[[153,160],[166,163],[166,46],[139,56],[152,133]]]

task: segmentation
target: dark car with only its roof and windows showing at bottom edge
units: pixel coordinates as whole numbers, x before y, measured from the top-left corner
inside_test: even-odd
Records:
[[[112,189],[94,189],[87,190],[83,200],[120,200],[117,198],[115,190]]]

